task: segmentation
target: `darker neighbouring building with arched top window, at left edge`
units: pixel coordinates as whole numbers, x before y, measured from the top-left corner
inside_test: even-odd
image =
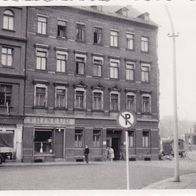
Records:
[[[0,147],[22,159],[26,8],[0,8]],[[6,145],[5,145],[6,144]]]

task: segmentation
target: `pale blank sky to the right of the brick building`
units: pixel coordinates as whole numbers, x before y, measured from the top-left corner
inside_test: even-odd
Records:
[[[196,121],[196,3],[167,3],[176,38],[177,105],[180,120]],[[133,3],[149,12],[159,25],[158,64],[160,69],[160,117],[173,114],[173,53],[171,26],[163,3]]]

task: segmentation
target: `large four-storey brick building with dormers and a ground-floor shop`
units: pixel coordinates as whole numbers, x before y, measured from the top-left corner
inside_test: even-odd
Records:
[[[157,25],[122,8],[28,7],[23,161],[125,158],[120,111],[132,111],[130,158],[158,158]],[[130,15],[131,13],[131,15]]]

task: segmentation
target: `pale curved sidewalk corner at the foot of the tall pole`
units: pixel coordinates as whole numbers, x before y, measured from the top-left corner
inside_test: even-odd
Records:
[[[174,182],[174,178],[168,178],[143,189],[196,189],[196,173],[180,176],[180,182]]]

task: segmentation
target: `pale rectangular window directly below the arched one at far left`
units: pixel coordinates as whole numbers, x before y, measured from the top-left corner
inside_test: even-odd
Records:
[[[1,64],[10,67],[13,65],[13,48],[1,48]]]

